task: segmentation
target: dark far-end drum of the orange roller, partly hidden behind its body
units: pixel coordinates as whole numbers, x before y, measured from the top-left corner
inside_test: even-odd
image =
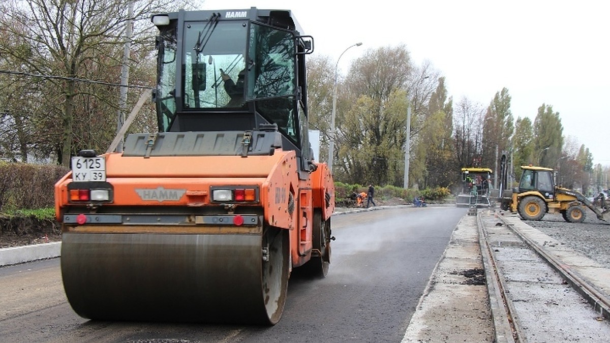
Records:
[[[322,219],[321,211],[314,211],[312,228],[312,258],[300,267],[301,272],[314,278],[325,278],[331,264],[331,220]]]

